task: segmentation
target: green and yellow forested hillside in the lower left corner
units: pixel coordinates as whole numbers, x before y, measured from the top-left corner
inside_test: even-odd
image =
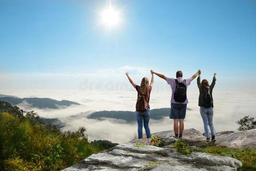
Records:
[[[0,101],[0,170],[60,170],[116,144],[89,143],[86,128],[61,132],[37,113]],[[107,142],[107,143],[106,143]]]

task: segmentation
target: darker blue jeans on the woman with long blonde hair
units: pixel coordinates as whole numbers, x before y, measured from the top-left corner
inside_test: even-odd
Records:
[[[147,135],[147,139],[151,137],[150,129],[148,127],[149,119],[150,119],[150,109],[148,108],[145,112],[136,111],[137,123],[138,123],[138,136],[139,139],[142,139],[142,127],[144,123],[145,132]]]

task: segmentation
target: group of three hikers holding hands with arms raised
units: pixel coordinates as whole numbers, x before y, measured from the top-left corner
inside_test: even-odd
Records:
[[[143,78],[141,80],[140,86],[137,86],[133,83],[132,79],[126,73],[129,82],[133,87],[137,90],[137,103],[136,103],[136,117],[138,124],[138,136],[139,139],[142,139],[142,125],[144,123],[145,132],[148,139],[148,144],[151,141],[150,129],[148,126],[149,118],[150,118],[150,108],[149,108],[149,97],[153,86],[153,74],[159,76],[160,78],[166,80],[168,84],[170,84],[172,93],[171,93],[171,113],[170,119],[174,119],[174,133],[176,137],[182,138],[183,130],[184,130],[184,119],[186,117],[187,110],[187,87],[190,85],[192,80],[194,80],[198,76],[198,88],[199,88],[199,106],[200,106],[200,114],[204,123],[204,131],[206,132],[207,141],[210,141],[208,127],[211,129],[212,141],[215,140],[215,129],[212,124],[212,116],[213,116],[213,99],[212,99],[212,89],[215,85],[215,75],[212,81],[211,86],[208,85],[207,80],[203,80],[200,83],[200,74],[201,71],[198,70],[196,74],[192,75],[191,78],[183,79],[183,72],[176,72],[175,78],[167,78],[165,75],[157,73],[151,70],[151,83],[148,84],[148,79]],[[210,104],[209,104],[210,103]]]

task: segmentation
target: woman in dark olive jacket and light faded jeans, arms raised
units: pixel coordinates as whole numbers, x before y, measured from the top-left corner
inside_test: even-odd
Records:
[[[209,127],[211,130],[211,141],[216,141],[215,129],[212,123],[212,118],[214,115],[212,89],[214,88],[215,82],[216,82],[215,76],[216,76],[216,73],[214,73],[214,77],[212,79],[212,83],[210,86],[206,79],[203,79],[202,83],[200,83],[200,74],[198,76],[198,88],[200,92],[198,105],[200,106],[200,114],[203,119],[204,131],[206,134],[206,141],[210,141]]]

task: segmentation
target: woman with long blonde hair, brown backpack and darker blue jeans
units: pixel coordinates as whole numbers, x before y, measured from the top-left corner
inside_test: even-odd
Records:
[[[132,86],[137,91],[137,102],[136,102],[136,118],[137,118],[137,124],[138,124],[138,137],[139,140],[142,141],[142,127],[144,124],[145,132],[147,135],[147,144],[150,144],[151,142],[151,133],[149,129],[149,119],[150,119],[150,108],[149,108],[149,97],[153,86],[153,74],[151,73],[151,83],[148,83],[148,78],[144,77],[141,80],[140,86],[137,86],[135,84],[131,77],[129,76],[128,72],[125,73],[127,75],[127,78],[129,79],[129,82],[132,84]]]

